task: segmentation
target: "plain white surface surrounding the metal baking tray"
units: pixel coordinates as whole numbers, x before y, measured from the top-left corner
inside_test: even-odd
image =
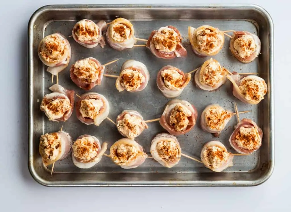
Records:
[[[39,7],[61,3],[255,3],[265,8],[275,31],[276,160],[269,180],[231,188],[49,188],[36,183],[27,168],[27,24]],[[291,211],[290,7],[287,0],[1,1],[0,211]]]

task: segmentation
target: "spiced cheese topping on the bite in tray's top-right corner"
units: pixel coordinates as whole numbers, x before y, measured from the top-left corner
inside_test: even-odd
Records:
[[[233,47],[237,50],[239,57],[247,58],[251,56],[256,50],[255,40],[251,35],[242,35],[242,37],[237,38]]]

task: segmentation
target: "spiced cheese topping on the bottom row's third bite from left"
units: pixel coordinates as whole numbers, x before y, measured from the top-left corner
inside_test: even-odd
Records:
[[[113,149],[114,151],[114,162],[115,163],[128,163],[133,160],[136,155],[139,153],[139,150],[136,147],[128,144],[120,144]]]

